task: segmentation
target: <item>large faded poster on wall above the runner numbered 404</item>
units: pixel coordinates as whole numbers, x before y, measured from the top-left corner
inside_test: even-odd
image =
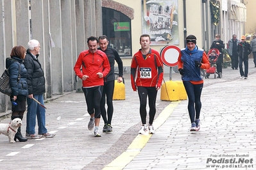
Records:
[[[142,33],[151,45],[178,45],[178,0],[142,0]]]

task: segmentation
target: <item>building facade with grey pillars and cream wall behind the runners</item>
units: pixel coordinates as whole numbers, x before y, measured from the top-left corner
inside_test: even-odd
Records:
[[[107,35],[110,47],[123,59],[124,73],[130,73],[144,33],[159,52],[166,45],[185,47],[185,37],[191,34],[197,37],[198,47],[207,50],[216,33],[225,43],[234,33],[243,35],[246,21],[246,7],[240,0],[1,0],[0,4],[0,70],[4,71],[13,46],[26,47],[29,40],[37,39],[42,47],[38,59],[46,77],[45,98],[81,86],[73,67],[80,52],[88,49],[89,36]],[[219,10],[218,24],[211,19],[212,4],[218,6],[214,8]],[[245,17],[230,18],[230,7],[245,10]],[[10,109],[9,100],[0,94],[0,112]]]

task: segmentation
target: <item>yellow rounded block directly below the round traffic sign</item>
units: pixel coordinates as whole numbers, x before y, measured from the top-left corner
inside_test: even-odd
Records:
[[[178,84],[174,81],[167,81],[162,84],[160,99],[164,101],[178,101]]]

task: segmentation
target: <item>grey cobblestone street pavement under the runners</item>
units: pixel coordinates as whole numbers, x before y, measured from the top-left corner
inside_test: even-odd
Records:
[[[207,166],[255,165],[256,68],[249,61],[247,80],[239,79],[239,70],[223,68],[223,78],[205,79],[201,96],[201,129],[191,133],[187,100],[166,102],[157,97],[158,122],[153,135],[138,135],[141,126],[139,97],[132,91],[130,75],[125,75],[125,100],[114,100],[112,134],[94,137],[87,129],[89,114],[83,93],[65,93],[46,103],[46,123],[53,138],[28,139],[26,143],[8,143],[0,135],[1,169],[221,169]],[[180,75],[173,73],[173,81]],[[165,75],[169,81],[169,75]],[[162,90],[162,89],[161,89]],[[159,91],[160,92],[160,91]],[[176,107],[169,109],[169,105]],[[167,116],[164,116],[166,115]],[[26,116],[25,116],[26,117]],[[8,123],[10,119],[0,121]],[[100,127],[103,127],[101,120]],[[25,134],[26,118],[22,125]],[[130,150],[135,141],[145,142]],[[142,143],[141,142],[141,143]],[[139,145],[139,144],[137,144]],[[136,152],[135,156],[121,156]],[[239,155],[236,155],[239,154]],[[119,155],[121,157],[119,157]],[[217,157],[216,157],[217,156]],[[220,156],[220,157],[219,157]],[[239,157],[240,156],[240,157]],[[120,164],[129,160],[127,164]],[[217,163],[235,158],[239,163]],[[241,160],[250,160],[240,164]],[[207,163],[208,161],[208,163]],[[220,160],[219,160],[220,161]],[[215,162],[215,163],[214,163]],[[247,162],[247,161],[245,161]],[[226,169],[226,167],[224,167]],[[246,169],[231,167],[230,169]],[[248,169],[256,169],[248,167]]]

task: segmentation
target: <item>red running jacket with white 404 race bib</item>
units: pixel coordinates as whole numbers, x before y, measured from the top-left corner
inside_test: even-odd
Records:
[[[135,73],[137,71],[137,79],[135,82]],[[163,63],[157,50],[149,49],[144,59],[141,49],[136,52],[132,58],[131,65],[131,83],[133,91],[137,90],[137,86],[143,87],[161,87],[164,75]]]

